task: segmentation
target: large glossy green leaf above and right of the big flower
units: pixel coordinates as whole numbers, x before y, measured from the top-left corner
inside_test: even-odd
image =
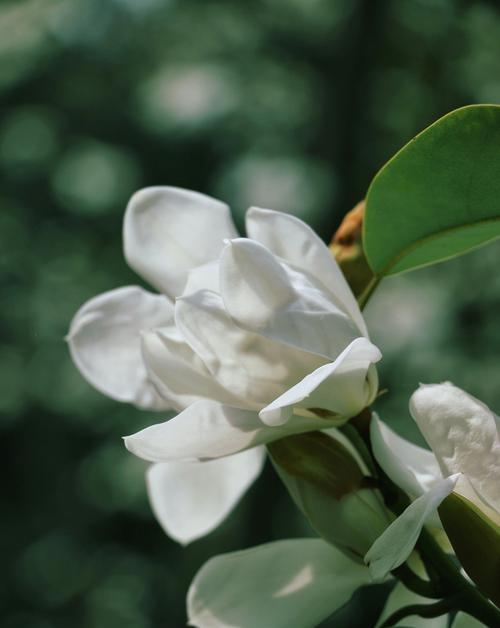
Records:
[[[500,237],[500,106],[452,111],[404,146],[368,190],[364,247],[378,276]]]

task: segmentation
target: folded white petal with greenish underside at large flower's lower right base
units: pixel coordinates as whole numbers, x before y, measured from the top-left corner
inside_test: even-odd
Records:
[[[355,416],[377,392],[376,373],[370,366],[381,357],[369,340],[357,338],[335,362],[307,375],[263,408],[259,416],[268,425],[286,422],[294,407],[320,408],[342,418]]]

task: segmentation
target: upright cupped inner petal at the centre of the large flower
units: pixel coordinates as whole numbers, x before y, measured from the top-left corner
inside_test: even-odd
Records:
[[[224,305],[240,327],[334,360],[359,330],[321,285],[253,240],[232,240],[220,262]]]

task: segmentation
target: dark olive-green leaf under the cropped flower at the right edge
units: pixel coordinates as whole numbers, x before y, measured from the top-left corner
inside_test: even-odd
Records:
[[[500,527],[471,501],[452,493],[438,509],[462,567],[480,591],[500,604]]]

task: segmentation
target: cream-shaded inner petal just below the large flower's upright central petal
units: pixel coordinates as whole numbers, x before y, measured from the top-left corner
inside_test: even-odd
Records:
[[[175,318],[210,373],[245,407],[262,408],[322,363],[317,356],[241,329],[214,292],[200,290],[177,299]]]

